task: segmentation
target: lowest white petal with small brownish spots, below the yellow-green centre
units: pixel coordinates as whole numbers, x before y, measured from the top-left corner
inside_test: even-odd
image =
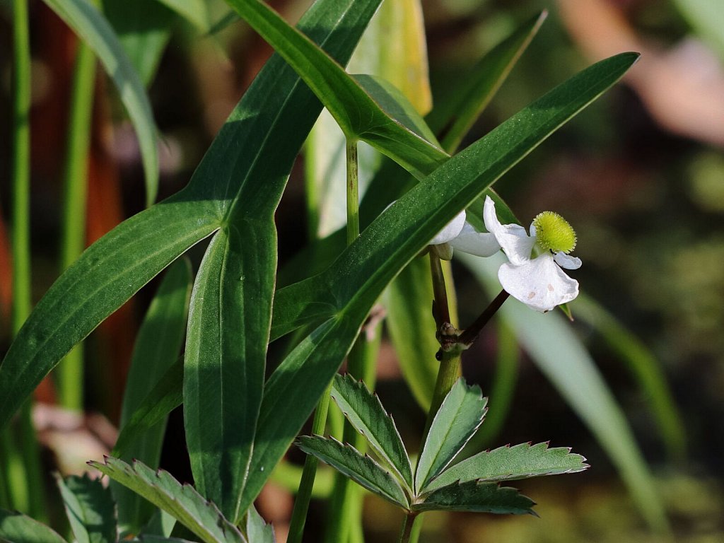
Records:
[[[578,296],[578,281],[563,273],[550,253],[521,266],[502,264],[498,279],[513,298],[537,311],[550,311]]]

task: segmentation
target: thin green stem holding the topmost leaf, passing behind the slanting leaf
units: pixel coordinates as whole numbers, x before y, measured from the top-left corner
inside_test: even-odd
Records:
[[[353,243],[360,235],[360,223],[359,223],[359,172],[358,172],[358,161],[357,161],[357,141],[348,140],[346,145],[346,156],[347,156],[347,245]],[[358,338],[359,342],[359,338]],[[350,351],[349,358],[353,358],[355,351],[355,345],[353,345]],[[329,384],[327,390],[319,400],[316,411],[314,412],[314,420],[312,423],[313,434],[324,434],[324,428],[327,426],[327,412],[329,411],[329,399],[330,392],[332,392],[332,384]],[[346,432],[345,432],[346,434]],[[309,509],[309,500],[311,499],[312,487],[314,485],[314,477],[316,476],[316,469],[319,465],[319,461],[313,455],[307,455],[304,460],[304,469],[302,471],[302,479],[299,484],[299,490],[297,497],[294,502],[294,509],[292,510],[292,519],[289,526],[289,536],[287,536],[288,543],[300,543],[304,534],[304,523],[306,521],[307,511]],[[335,487],[337,487],[335,481]],[[336,492],[332,491],[334,497]],[[347,494],[347,492],[344,492]],[[333,500],[334,501],[334,500]],[[338,514],[341,515],[345,509],[344,505],[340,505],[337,508]],[[337,520],[341,520],[338,518]],[[337,542],[342,542],[342,539],[335,539]]]

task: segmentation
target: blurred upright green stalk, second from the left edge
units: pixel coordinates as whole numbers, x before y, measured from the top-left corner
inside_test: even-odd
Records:
[[[70,101],[70,120],[64,172],[64,209],[60,269],[64,271],[85,248],[85,203],[88,192],[88,149],[93,115],[96,59],[84,43],[78,43]],[[64,408],[83,408],[83,344],[79,343],[56,372],[59,403]]]

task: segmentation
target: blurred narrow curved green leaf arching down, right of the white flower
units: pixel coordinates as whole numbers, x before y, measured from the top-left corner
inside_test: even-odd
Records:
[[[669,454],[681,460],[686,452],[686,430],[661,363],[638,337],[592,298],[579,294],[575,308],[576,319],[591,325],[621,361],[628,363],[628,369],[639,382],[642,396],[650,405]]]

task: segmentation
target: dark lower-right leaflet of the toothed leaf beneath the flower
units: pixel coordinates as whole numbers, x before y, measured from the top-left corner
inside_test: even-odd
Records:
[[[535,504],[518,489],[500,487],[497,483],[450,484],[436,490],[425,501],[414,505],[416,511],[473,511],[476,513],[510,513],[512,515],[536,515],[531,509]],[[536,515],[537,516],[537,515]]]

